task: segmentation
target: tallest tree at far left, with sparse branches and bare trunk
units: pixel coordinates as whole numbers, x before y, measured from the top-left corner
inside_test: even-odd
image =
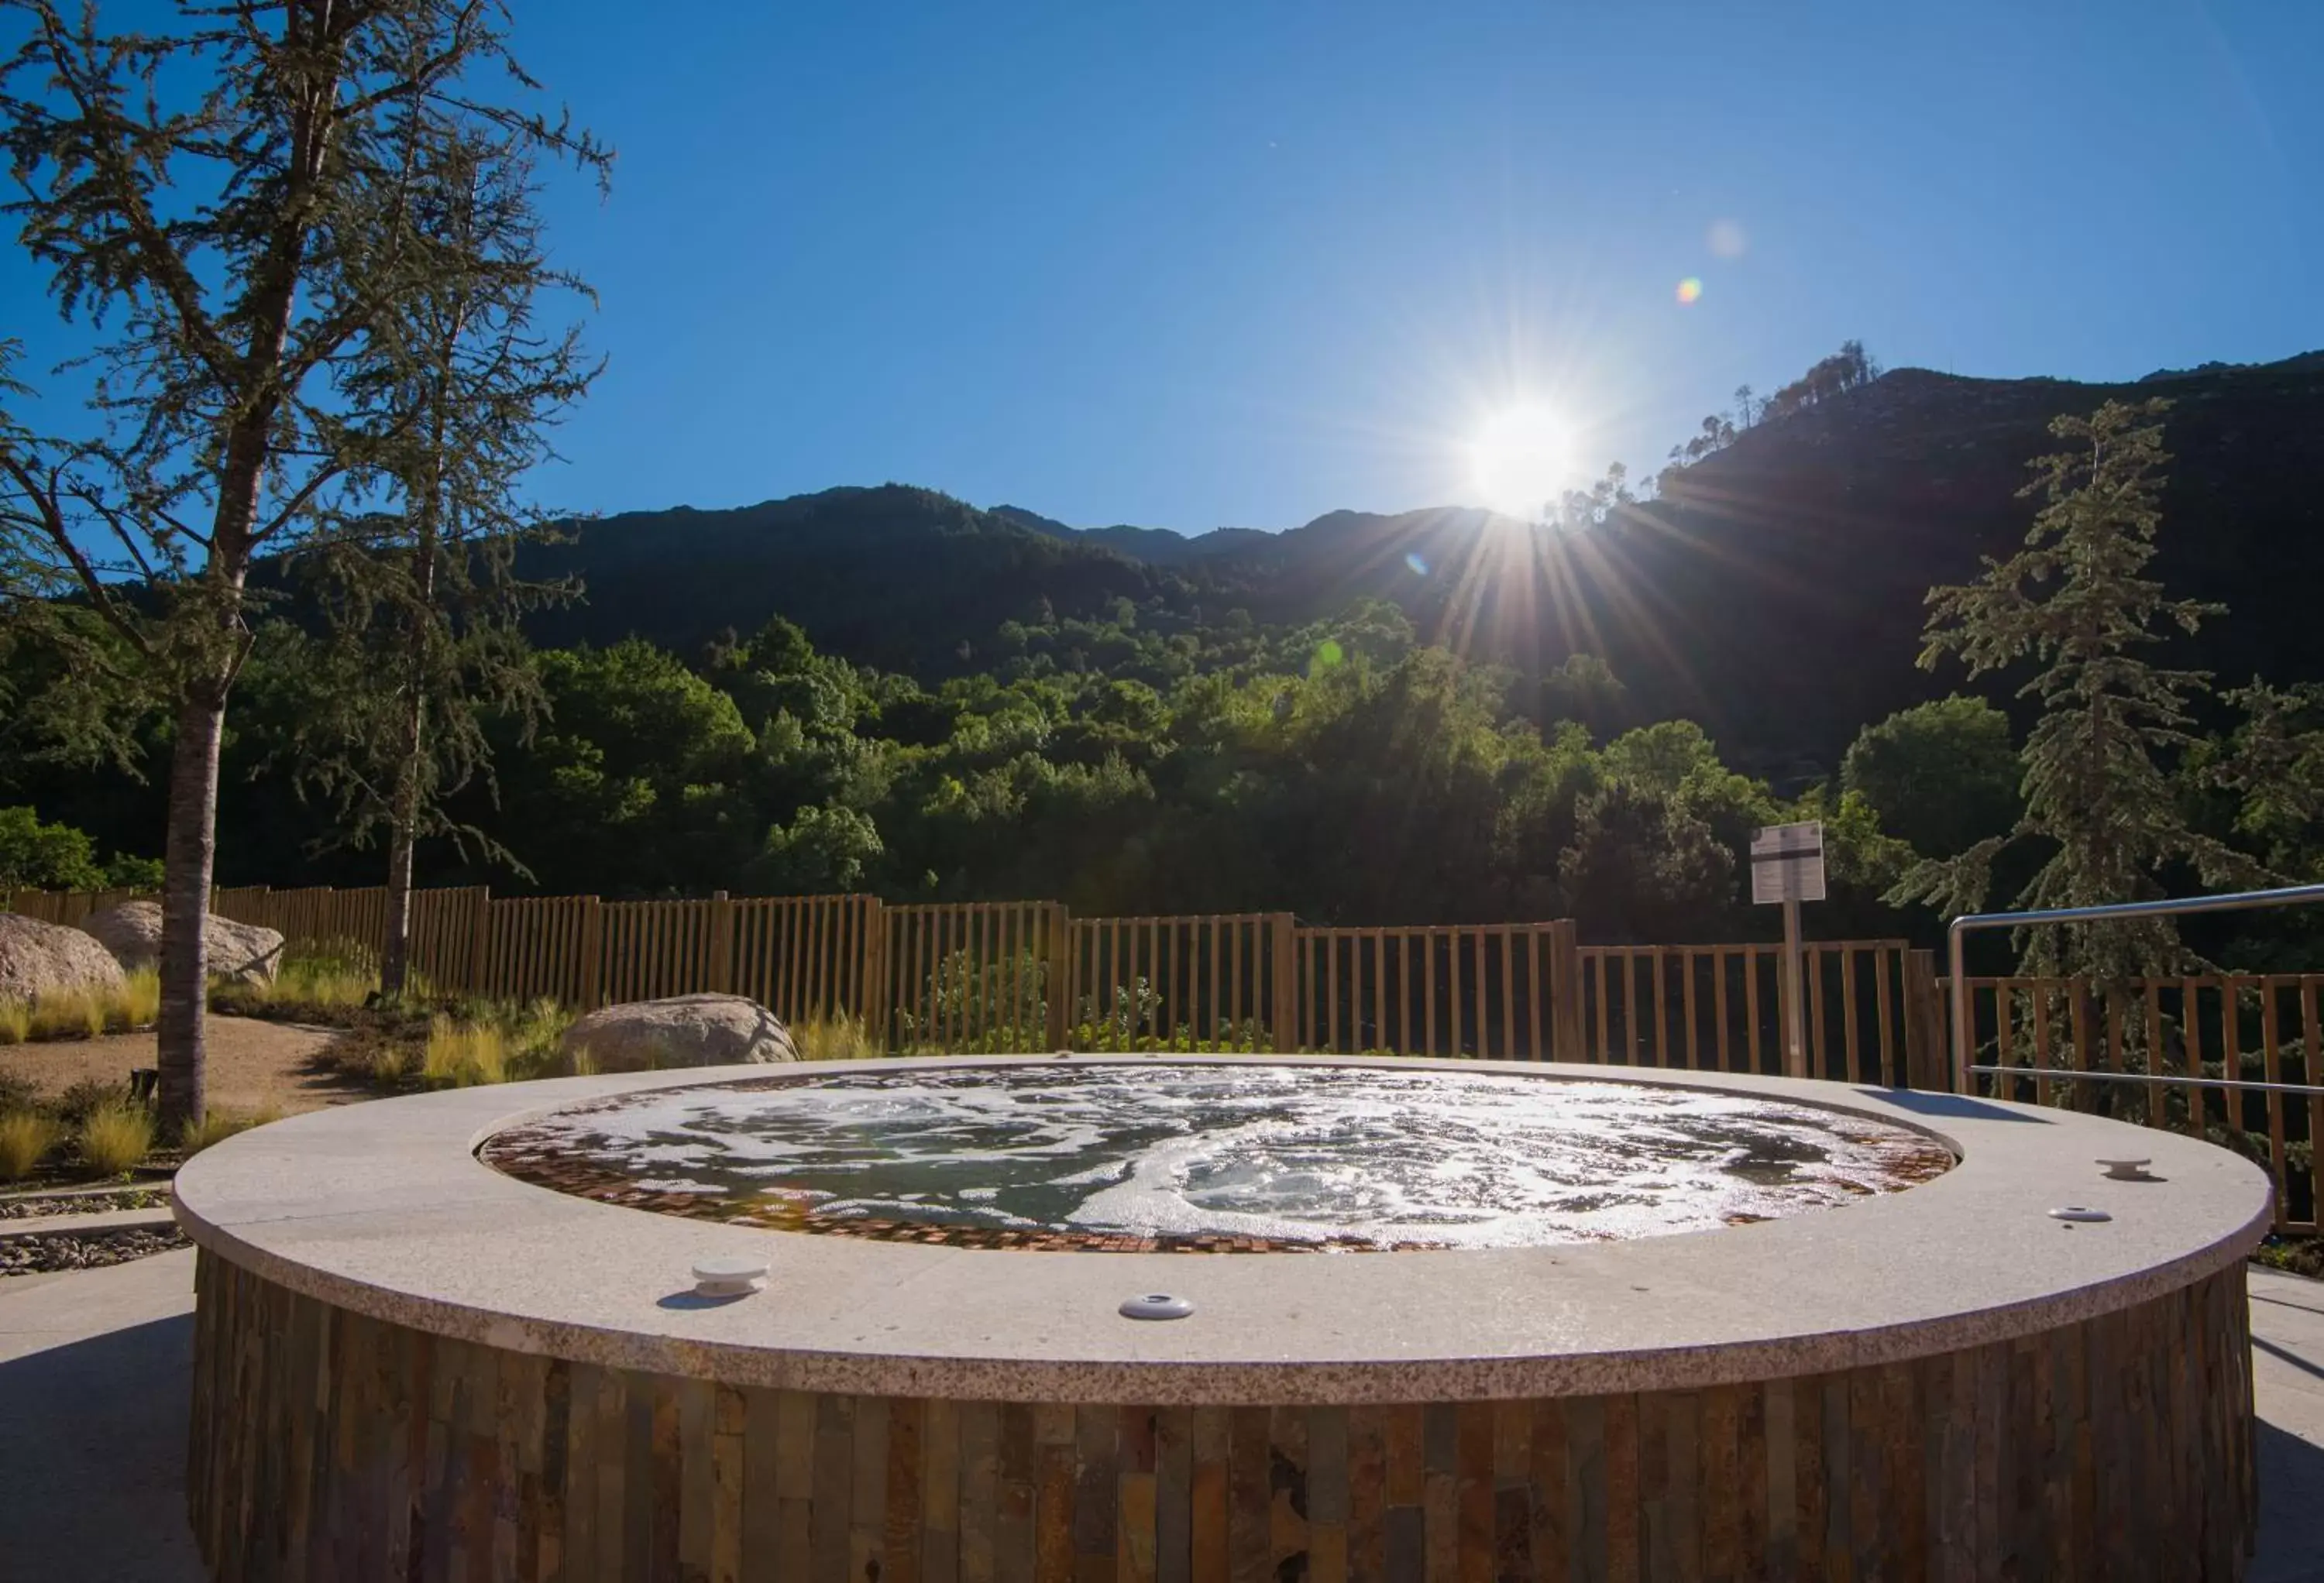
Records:
[[[0,432],[0,563],[70,586],[172,723],[160,1109],[202,1116],[207,953],[225,704],[253,642],[251,570],[393,472],[409,411],[342,374],[456,267],[414,149],[462,128],[604,172],[535,88],[507,14],[474,0],[177,0],[105,30],[98,7],[5,0],[0,144],[21,244],[91,332],[95,439]],[[465,265],[460,265],[465,267]],[[63,407],[63,402],[58,404]]]

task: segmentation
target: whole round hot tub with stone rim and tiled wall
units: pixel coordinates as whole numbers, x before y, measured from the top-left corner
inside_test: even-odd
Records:
[[[177,1195],[221,1578],[2233,1578],[2252,1525],[2268,1183],[2071,1111],[855,1062],[323,1111]]]

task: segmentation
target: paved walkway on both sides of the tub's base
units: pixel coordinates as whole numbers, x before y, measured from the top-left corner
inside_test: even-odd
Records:
[[[179,1469],[193,1251],[0,1283],[0,1583],[200,1583]],[[2252,1272],[2259,1557],[2324,1583],[2324,1281]]]

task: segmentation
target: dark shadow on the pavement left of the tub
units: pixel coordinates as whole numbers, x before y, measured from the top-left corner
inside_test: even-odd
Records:
[[[186,1313],[0,1362],[0,1576],[202,1576],[186,1527],[191,1367]]]

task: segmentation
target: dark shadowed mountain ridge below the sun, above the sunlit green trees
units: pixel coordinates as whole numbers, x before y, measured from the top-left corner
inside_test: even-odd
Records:
[[[1945,679],[1917,672],[1922,600],[2022,537],[2024,463],[2050,418],[2168,395],[2161,576],[2231,618],[2187,660],[2222,679],[2324,679],[2301,602],[2324,576],[2324,353],[2131,386],[1894,370],[1792,409],[1722,414],[1631,497],[1529,528],[1476,509],[1332,511],[1285,532],[1074,532],[1020,507],[846,488],[737,511],[625,514],[532,551],[590,583],[541,642],[693,653],[769,614],[832,653],[927,681],[985,669],[1006,621],[1162,628],[1322,621],[1397,604],[1425,644],[1541,676],[1604,658],[1641,718],[1694,718],[1752,765],[1834,765],[1855,732]],[[1720,425],[1724,423],[1724,432]],[[2003,693],[2006,695],[2006,693]]]

